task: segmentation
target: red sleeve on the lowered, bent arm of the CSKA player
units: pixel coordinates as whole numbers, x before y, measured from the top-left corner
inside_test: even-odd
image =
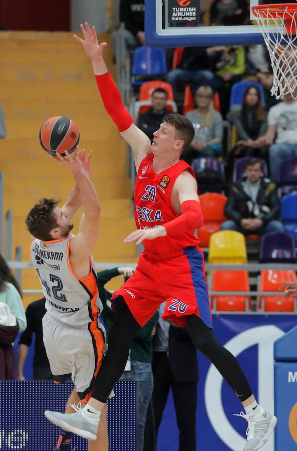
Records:
[[[198,200],[185,200],[180,206],[182,214],[163,226],[167,235],[190,232],[203,225],[203,216]]]

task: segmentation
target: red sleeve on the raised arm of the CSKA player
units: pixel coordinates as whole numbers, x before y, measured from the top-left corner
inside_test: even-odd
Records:
[[[120,91],[110,73],[95,75],[95,78],[106,111],[118,127],[119,132],[127,130],[133,124],[133,119],[126,110]]]

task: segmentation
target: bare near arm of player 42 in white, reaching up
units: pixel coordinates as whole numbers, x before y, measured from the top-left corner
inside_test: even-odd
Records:
[[[67,151],[65,151],[65,154],[64,158],[58,155],[57,159],[72,171],[80,191],[84,211],[79,225],[79,232],[70,242],[71,265],[78,277],[83,278],[79,272],[82,267],[87,268],[87,270],[89,268],[90,254],[94,249],[98,236],[101,206],[95,186],[85,172],[78,153],[73,158]],[[76,271],[77,269],[78,271]]]

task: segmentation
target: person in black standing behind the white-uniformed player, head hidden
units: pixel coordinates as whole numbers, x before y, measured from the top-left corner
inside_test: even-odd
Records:
[[[33,379],[53,380],[50,369],[50,362],[47,357],[43,343],[42,319],[46,314],[46,299],[42,298],[29,304],[26,310],[27,328],[21,335],[19,341],[18,371],[17,379],[25,380],[24,365],[28,356],[29,348],[32,344],[33,334],[35,334],[34,359],[33,359]]]

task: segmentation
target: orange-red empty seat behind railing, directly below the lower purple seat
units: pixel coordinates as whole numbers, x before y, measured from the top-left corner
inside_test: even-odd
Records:
[[[296,280],[295,271],[261,271],[259,291],[276,291],[283,282],[294,282]],[[265,312],[293,312],[294,298],[284,299],[284,293],[279,296],[260,296],[258,308]]]

